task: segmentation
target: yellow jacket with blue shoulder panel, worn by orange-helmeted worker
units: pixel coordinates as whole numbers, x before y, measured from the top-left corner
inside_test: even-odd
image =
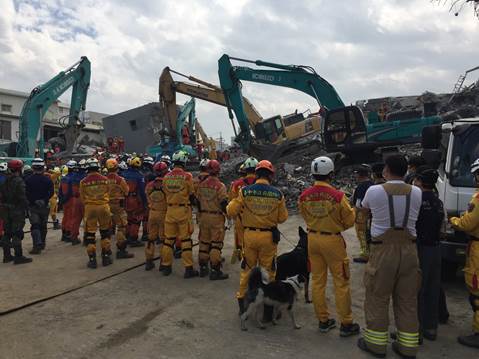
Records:
[[[226,211],[233,218],[241,214],[244,227],[270,229],[288,219],[283,194],[265,179],[243,187]]]

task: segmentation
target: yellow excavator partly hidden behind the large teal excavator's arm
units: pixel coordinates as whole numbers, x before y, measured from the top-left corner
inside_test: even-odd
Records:
[[[171,75],[172,73],[195,83],[175,81]],[[182,74],[169,67],[165,67],[161,73],[159,92],[165,103],[169,104],[168,106],[171,108],[171,113],[173,113],[174,106],[176,105],[176,93],[196,97],[220,106],[227,106],[223,90],[219,86],[194,76]],[[264,155],[269,154],[271,149],[270,144],[279,145],[287,143],[291,145],[291,141],[318,132],[321,128],[318,115],[313,115],[305,119],[302,113],[294,113],[287,116],[277,115],[263,119],[246,97],[242,98],[242,103],[244,105],[248,127],[253,132],[254,139],[257,143],[255,150],[258,150],[259,146],[262,146],[262,148],[266,150]],[[232,117],[230,119],[235,135],[237,136],[234,120]],[[249,146],[244,149],[248,152],[252,152],[252,148]]]

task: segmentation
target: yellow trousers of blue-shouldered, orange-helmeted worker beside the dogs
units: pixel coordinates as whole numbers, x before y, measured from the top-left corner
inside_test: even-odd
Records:
[[[245,230],[244,232],[244,258],[241,263],[239,291],[237,298],[244,298],[248,289],[248,278],[251,269],[259,265],[266,269],[269,280],[274,280],[276,275],[275,258],[278,245],[273,242],[271,232]]]

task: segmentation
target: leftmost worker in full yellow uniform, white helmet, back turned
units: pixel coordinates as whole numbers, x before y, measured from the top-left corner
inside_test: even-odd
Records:
[[[80,198],[85,205],[85,232],[84,241],[87,246],[87,267],[95,269],[96,240],[95,233],[100,228],[102,265],[112,264],[110,225],[111,213],[109,206],[108,178],[99,173],[100,164],[96,158],[87,160],[87,176],[80,182]]]

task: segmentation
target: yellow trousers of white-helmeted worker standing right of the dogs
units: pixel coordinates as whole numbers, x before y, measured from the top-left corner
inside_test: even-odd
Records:
[[[311,262],[313,305],[316,317],[329,319],[326,301],[328,269],[333,276],[336,311],[342,324],[351,324],[351,290],[349,287],[349,259],[341,235],[308,233],[308,252]]]

